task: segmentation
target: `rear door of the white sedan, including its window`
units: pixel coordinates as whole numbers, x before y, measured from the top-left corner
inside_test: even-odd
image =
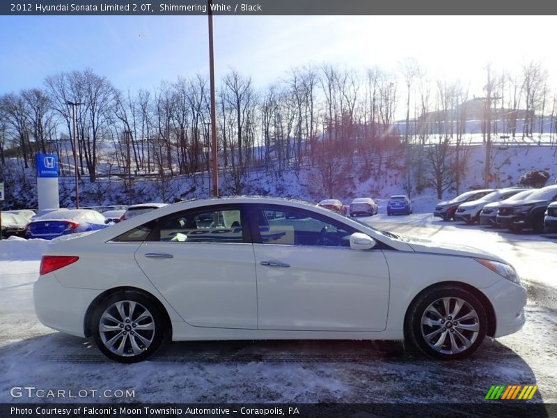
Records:
[[[256,272],[246,224],[239,205],[178,212],[158,220],[135,258],[190,325],[256,329]]]

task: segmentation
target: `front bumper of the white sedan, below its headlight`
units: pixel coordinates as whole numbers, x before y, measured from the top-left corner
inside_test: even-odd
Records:
[[[494,337],[513,334],[524,326],[526,318],[526,289],[521,285],[501,279],[492,286],[482,289],[483,293],[492,302],[495,313]]]

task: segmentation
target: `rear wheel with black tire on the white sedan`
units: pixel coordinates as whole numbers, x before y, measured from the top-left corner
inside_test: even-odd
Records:
[[[101,325],[114,330],[105,328],[101,332]],[[91,322],[91,334],[99,350],[121,363],[142,362],[151,357],[162,346],[167,329],[157,304],[139,291],[120,292],[102,300],[95,307]],[[117,347],[122,349],[120,353]]]

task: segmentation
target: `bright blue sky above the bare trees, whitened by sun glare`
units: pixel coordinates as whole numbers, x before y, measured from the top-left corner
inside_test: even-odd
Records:
[[[396,70],[414,56],[432,79],[462,79],[480,93],[488,61],[511,69],[542,61],[554,80],[553,28],[549,16],[217,16],[217,79],[237,68],[264,87],[298,65]],[[0,56],[0,94],[86,67],[123,90],[152,89],[208,74],[207,17],[0,16]]]

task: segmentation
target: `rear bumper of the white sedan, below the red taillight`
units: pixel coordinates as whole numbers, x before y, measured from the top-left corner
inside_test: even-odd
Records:
[[[84,318],[88,306],[102,291],[67,288],[54,273],[39,276],[33,286],[35,312],[40,322],[54,330],[85,336]]]

